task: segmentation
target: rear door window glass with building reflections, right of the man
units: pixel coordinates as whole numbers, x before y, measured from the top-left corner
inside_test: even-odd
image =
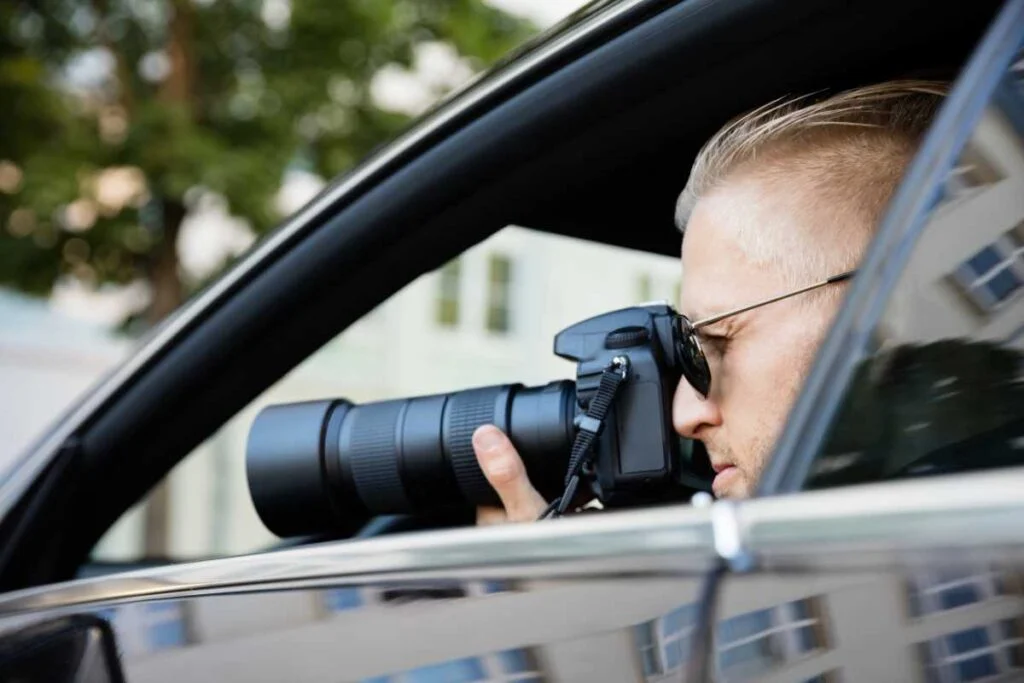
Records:
[[[1022,79],[1018,59],[959,155],[807,487],[1024,464]]]

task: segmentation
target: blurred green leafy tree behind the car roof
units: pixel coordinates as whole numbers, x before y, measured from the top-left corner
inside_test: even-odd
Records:
[[[177,245],[204,193],[263,232],[290,163],[334,176],[407,123],[372,97],[383,68],[433,43],[480,68],[534,31],[479,0],[22,0],[0,22],[0,285],[141,280],[147,325],[197,285]]]

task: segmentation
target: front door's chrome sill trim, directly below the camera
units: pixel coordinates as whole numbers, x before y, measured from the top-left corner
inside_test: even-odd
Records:
[[[0,617],[83,603],[472,575],[702,573],[717,561],[709,510],[684,506],[328,543],[73,581],[0,596]]]

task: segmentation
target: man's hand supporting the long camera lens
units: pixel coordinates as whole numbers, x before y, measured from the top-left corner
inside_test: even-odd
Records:
[[[529,483],[526,468],[509,437],[494,425],[473,432],[473,451],[483,475],[498,493],[502,508],[477,508],[477,525],[535,521],[547,503]]]

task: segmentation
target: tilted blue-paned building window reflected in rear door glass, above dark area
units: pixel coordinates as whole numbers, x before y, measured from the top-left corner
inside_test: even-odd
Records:
[[[981,249],[952,274],[982,312],[990,312],[1024,287],[1024,223]]]

